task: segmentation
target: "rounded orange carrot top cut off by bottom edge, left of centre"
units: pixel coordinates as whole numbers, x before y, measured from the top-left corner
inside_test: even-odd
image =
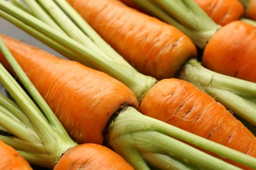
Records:
[[[62,169],[133,169],[116,152],[100,144],[80,144],[70,148],[54,167]]]

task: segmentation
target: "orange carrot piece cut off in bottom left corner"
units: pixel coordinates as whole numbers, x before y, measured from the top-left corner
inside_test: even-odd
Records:
[[[0,154],[0,169],[32,169],[30,163],[28,163],[20,153],[1,140]]]

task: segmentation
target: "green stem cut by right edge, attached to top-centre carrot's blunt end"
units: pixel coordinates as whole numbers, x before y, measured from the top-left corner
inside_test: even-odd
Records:
[[[192,82],[226,108],[256,126],[256,83],[205,69],[196,59],[184,64],[178,78]]]

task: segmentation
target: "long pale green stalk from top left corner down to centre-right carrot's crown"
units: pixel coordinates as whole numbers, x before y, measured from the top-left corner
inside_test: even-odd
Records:
[[[65,48],[68,48],[68,50],[71,50],[79,57],[77,58],[77,56],[70,56],[70,59],[78,60],[85,65],[90,65],[90,67],[93,67],[94,69],[108,73],[108,75],[114,76],[117,78],[117,80],[120,80],[129,86],[139,101],[142,99],[144,93],[146,93],[146,90],[148,90],[148,88],[150,88],[156,82],[155,78],[142,75],[134,69],[125,69],[127,68],[125,65],[110,62],[109,59],[102,58],[102,56],[99,56],[98,54],[95,54],[94,51],[90,50],[89,47],[83,46],[79,42],[74,41],[74,39],[64,36],[62,33],[59,33],[49,25],[44,24],[40,20],[26,14],[26,12],[23,12],[20,9],[12,7],[12,5],[9,5],[9,3],[5,1],[0,1],[0,5],[2,10],[6,10],[7,13],[18,18],[18,20],[21,20],[22,22],[26,22],[26,24],[30,25],[34,29],[37,29],[37,31],[40,31]]]

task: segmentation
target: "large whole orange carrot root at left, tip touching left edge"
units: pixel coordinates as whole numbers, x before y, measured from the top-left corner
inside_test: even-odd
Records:
[[[111,76],[4,35],[1,37],[77,143],[102,144],[102,131],[112,114],[121,105],[138,107],[131,90]],[[0,59],[8,67],[3,54]]]

